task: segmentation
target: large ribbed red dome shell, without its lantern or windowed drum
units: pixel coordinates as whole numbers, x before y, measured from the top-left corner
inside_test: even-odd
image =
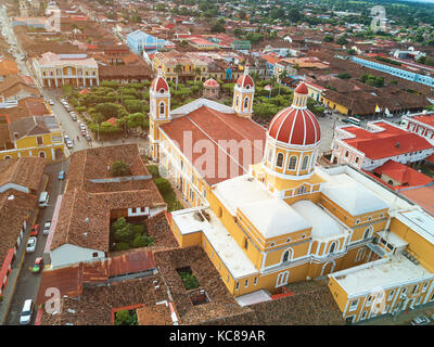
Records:
[[[272,118],[268,134],[288,144],[310,145],[321,139],[321,129],[315,115],[307,108],[288,107]]]

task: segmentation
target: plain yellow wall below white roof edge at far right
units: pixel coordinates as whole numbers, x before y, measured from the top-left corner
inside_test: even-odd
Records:
[[[421,266],[434,272],[434,245],[420,236],[411,228],[407,227],[398,219],[393,218],[390,224],[390,230],[396,235],[408,242],[407,250],[416,254]]]

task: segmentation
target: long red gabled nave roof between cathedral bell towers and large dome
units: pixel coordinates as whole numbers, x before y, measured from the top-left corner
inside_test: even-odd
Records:
[[[180,146],[181,152],[189,157],[195,168],[203,174],[209,184],[216,184],[226,179],[244,175],[248,170],[248,165],[255,164],[263,158],[266,130],[248,118],[242,118],[235,114],[226,114],[207,106],[202,106],[183,117],[171,120],[161,128],[171,140]],[[213,151],[199,149],[189,154],[189,149],[184,147],[183,136],[191,131],[192,144],[199,144],[200,140],[209,140]],[[254,142],[254,141],[260,142]],[[244,155],[243,151],[230,153],[222,145],[217,145],[219,141],[230,141],[240,146],[250,145],[250,155]],[[187,141],[186,141],[187,142]],[[194,153],[200,152],[200,153]],[[210,153],[214,152],[214,153]],[[235,156],[238,155],[238,160]],[[214,168],[207,167],[214,165]],[[225,168],[226,165],[226,168]]]

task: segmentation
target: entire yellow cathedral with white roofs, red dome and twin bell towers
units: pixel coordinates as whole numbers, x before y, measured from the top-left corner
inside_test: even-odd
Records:
[[[258,291],[276,294],[289,283],[322,278],[344,318],[357,322],[375,314],[367,313],[363,305],[350,310],[355,297],[357,303],[362,295],[368,300],[369,284],[362,288],[357,275],[369,265],[372,273],[367,278],[378,277],[372,283],[386,297],[418,283],[425,287],[419,291],[419,304],[433,300],[434,259],[429,254],[434,250],[434,232],[426,227],[423,240],[409,240],[418,230],[400,215],[423,211],[348,166],[317,164],[321,130],[307,108],[305,83],[297,86],[292,105],[281,110],[268,129],[252,120],[254,91],[247,67],[235,82],[231,107],[199,99],[170,112],[169,88],[159,69],[151,85],[151,156],[191,206],[169,214],[179,244],[202,246],[237,297]],[[243,147],[252,155],[237,157],[222,145],[230,140],[252,143],[251,150]],[[210,152],[205,159],[204,151],[194,151],[202,141],[209,142],[201,145]],[[215,170],[204,170],[204,162],[214,163]],[[385,235],[387,242],[382,242]],[[410,265],[404,252],[410,245],[416,249],[414,243],[424,250],[419,262]],[[386,260],[390,267],[420,267],[420,275],[413,269],[387,278],[380,271]],[[341,271],[345,275],[337,275]],[[417,305],[417,298],[411,299],[407,304]],[[391,303],[387,312],[399,303]]]

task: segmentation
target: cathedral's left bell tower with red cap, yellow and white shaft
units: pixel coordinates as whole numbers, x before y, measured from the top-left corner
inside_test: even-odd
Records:
[[[150,151],[154,162],[159,158],[158,127],[170,121],[170,89],[158,66],[156,78],[150,87]]]

